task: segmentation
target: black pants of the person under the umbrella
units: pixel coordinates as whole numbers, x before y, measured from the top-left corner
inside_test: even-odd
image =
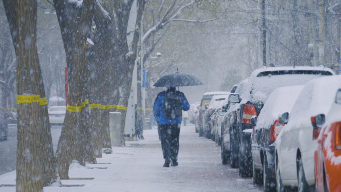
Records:
[[[179,153],[180,124],[160,125],[161,146],[164,159],[170,158],[177,161]]]

